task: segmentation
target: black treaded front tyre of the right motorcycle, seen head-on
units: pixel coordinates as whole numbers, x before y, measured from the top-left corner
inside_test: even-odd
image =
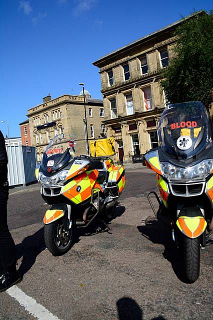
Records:
[[[186,280],[195,282],[200,273],[200,237],[183,237],[184,272]]]

